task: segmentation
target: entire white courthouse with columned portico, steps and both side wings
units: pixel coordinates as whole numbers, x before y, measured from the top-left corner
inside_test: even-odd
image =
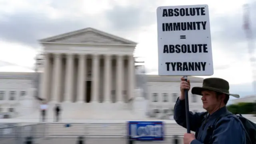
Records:
[[[64,108],[63,118],[136,118],[132,110],[125,107],[137,97],[134,93],[138,85],[133,56],[136,42],[85,28],[45,38],[40,43],[44,48],[44,65],[39,96],[48,102],[50,111],[58,103]],[[202,85],[202,78],[189,78],[192,86]],[[33,73],[0,72],[1,112],[16,111],[15,104],[28,93],[33,79]],[[152,117],[172,113],[180,91],[179,83],[179,76],[146,75],[148,112],[158,115]],[[200,96],[189,94],[189,99],[190,110],[203,110]],[[106,107],[96,112],[86,107],[90,104],[96,104],[97,108],[113,105],[112,110],[120,108],[114,104],[123,107],[109,116],[104,111]],[[87,116],[83,117],[84,110]],[[89,111],[98,116],[88,116]],[[34,115],[38,116],[38,112]]]

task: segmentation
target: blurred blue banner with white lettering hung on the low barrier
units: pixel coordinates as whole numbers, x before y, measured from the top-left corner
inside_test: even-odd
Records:
[[[132,140],[164,140],[163,122],[128,122],[128,133]]]

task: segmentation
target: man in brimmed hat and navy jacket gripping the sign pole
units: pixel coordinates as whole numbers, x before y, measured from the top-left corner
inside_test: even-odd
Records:
[[[190,90],[190,81],[181,78],[180,97],[174,106],[174,120],[186,128],[184,90]],[[246,133],[242,122],[226,108],[229,84],[221,78],[206,78],[202,87],[192,88],[192,94],[201,95],[203,108],[207,112],[189,113],[190,129],[196,134],[184,134],[184,144],[246,144]],[[211,132],[211,134],[209,134]],[[210,136],[210,138],[209,138]]]

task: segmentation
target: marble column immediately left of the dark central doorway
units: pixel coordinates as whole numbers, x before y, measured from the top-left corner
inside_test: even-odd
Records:
[[[86,55],[80,54],[79,55],[79,62],[78,62],[78,79],[77,79],[77,102],[84,103],[84,92],[85,92],[85,68],[86,68]]]

